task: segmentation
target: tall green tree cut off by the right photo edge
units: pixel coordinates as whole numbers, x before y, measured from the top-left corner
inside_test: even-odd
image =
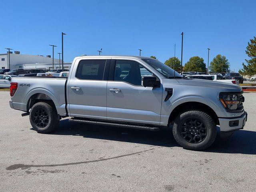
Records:
[[[250,39],[250,42],[248,42],[245,52],[250,59],[245,60],[247,62],[247,65],[242,63],[243,68],[238,72],[241,75],[253,76],[254,74],[256,74],[256,37],[255,36],[253,39]]]

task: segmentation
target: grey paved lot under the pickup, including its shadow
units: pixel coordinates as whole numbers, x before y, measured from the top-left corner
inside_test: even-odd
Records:
[[[56,132],[38,134],[0,92],[0,191],[256,191],[256,93],[244,96],[244,130],[195,152],[168,130],[62,120]]]

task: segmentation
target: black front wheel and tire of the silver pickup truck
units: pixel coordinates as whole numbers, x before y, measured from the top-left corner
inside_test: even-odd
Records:
[[[172,132],[177,143],[183,148],[204,150],[213,144],[217,129],[214,120],[208,114],[190,110],[175,118]]]

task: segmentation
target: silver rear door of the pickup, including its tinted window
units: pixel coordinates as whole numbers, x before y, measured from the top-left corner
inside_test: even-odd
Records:
[[[74,65],[77,72],[70,73],[68,84],[70,116],[106,120],[105,66],[106,60],[81,60]]]

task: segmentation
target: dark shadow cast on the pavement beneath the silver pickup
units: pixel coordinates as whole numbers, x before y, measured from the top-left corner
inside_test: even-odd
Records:
[[[84,138],[132,142],[155,146],[179,147],[172,135],[172,131],[168,128],[164,128],[158,132],[152,132],[131,128],[68,122],[68,119],[65,119],[60,121],[59,128],[51,134],[83,136]],[[220,138],[220,136],[218,136],[214,144],[207,150],[204,150],[204,152],[256,154],[256,132],[238,130],[228,138]]]

